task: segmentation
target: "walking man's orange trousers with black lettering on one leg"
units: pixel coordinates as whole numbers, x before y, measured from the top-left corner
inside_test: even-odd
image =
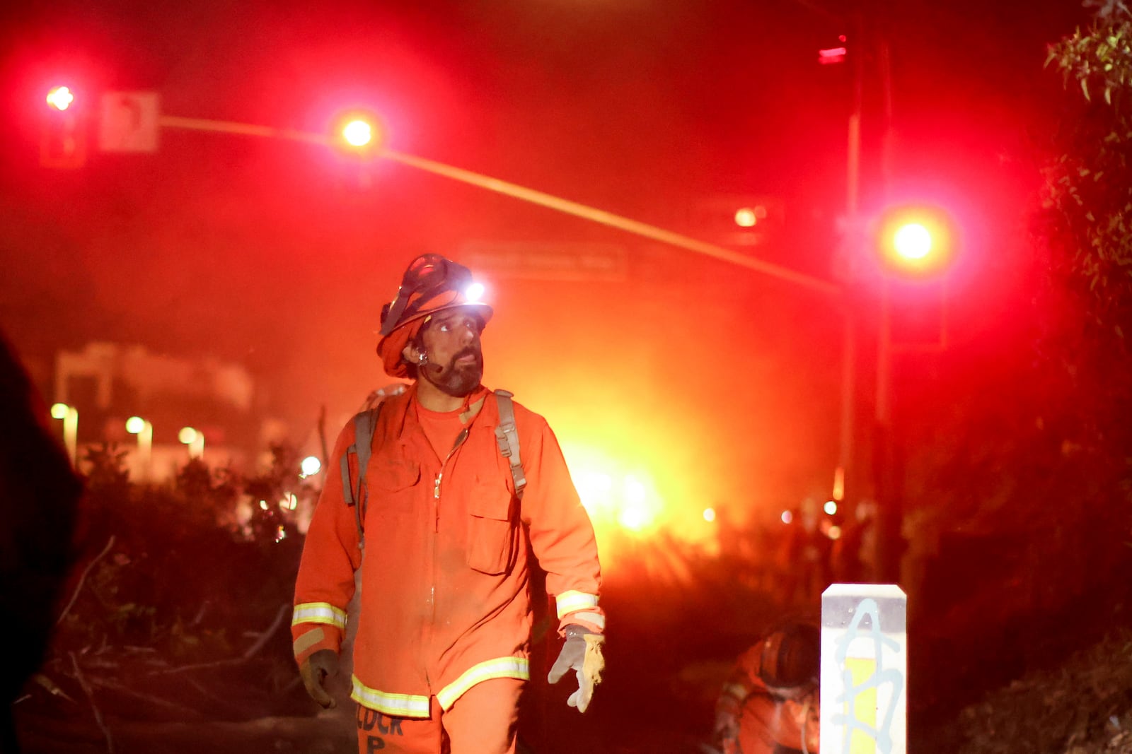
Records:
[[[391,718],[358,705],[359,754],[515,754],[524,681],[478,683],[447,712],[434,696],[431,717]]]

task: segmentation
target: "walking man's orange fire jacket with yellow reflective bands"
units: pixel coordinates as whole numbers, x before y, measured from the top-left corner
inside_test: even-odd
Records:
[[[351,697],[427,718],[430,695],[447,710],[482,681],[530,677],[528,543],[547,572],[559,631],[576,623],[601,633],[604,614],[593,527],[546,419],[514,404],[526,473],[520,501],[496,441],[496,396],[480,388],[469,397],[466,433],[441,459],[417,421],[415,395],[413,385],[387,398],[378,416],[365,558],[333,473],[354,441],[353,422],[338,435],[303,545],[291,631],[300,664],[319,649],[338,651],[361,567]]]

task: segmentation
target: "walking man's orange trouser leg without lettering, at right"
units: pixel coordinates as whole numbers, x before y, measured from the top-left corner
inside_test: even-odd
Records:
[[[440,717],[452,754],[515,754],[518,697],[525,683],[491,678],[464,692]]]

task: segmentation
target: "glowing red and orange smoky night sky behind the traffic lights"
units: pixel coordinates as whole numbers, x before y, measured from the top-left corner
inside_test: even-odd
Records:
[[[643,469],[671,500],[741,494],[771,505],[807,494],[829,478],[838,442],[842,320],[822,294],[326,147],[165,129],[155,154],[92,145],[85,166],[60,171],[40,166],[37,129],[43,94],[59,83],[80,96],[156,90],[164,114],[310,132],[366,107],[401,153],[713,243],[727,234],[702,209],[713,197],[772,197],[782,209],[771,235],[745,253],[829,278],[852,78],[848,63],[816,61],[852,33],[847,8],[203,0],[6,10],[0,326],[41,379],[57,348],[92,339],[241,362],[302,440],[320,405],[338,423],[389,381],[374,333],[417,253],[616,244],[621,280],[487,276],[496,318],[484,381],[543,413],[568,451]],[[1010,312],[1027,293],[1026,213],[1061,86],[1043,69],[1045,45],[1086,11],[914,0],[877,3],[868,17],[864,41],[849,45],[867,58],[861,211],[904,196],[953,208],[964,234],[949,288],[958,353],[990,350],[1011,337]],[[867,301],[864,278],[855,285]]]

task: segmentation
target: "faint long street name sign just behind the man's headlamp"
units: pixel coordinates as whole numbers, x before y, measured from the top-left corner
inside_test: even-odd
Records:
[[[616,243],[469,241],[458,259],[477,275],[617,283],[627,277],[626,257]]]

